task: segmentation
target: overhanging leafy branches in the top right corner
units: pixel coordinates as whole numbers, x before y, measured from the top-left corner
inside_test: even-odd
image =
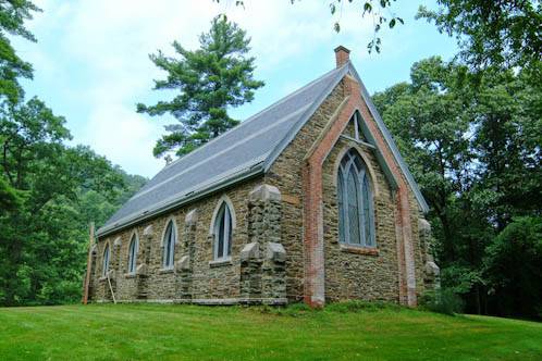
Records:
[[[417,16],[434,22],[441,33],[456,36],[460,57],[472,67],[538,67],[542,60],[540,1],[438,0],[438,10],[420,7]]]

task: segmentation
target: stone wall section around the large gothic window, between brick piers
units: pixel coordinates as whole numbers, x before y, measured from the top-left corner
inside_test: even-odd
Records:
[[[336,165],[347,149],[354,147],[372,170],[374,229],[377,247],[359,248],[338,244],[338,207]],[[398,300],[397,247],[392,189],[378,164],[373,150],[354,141],[340,139],[323,164],[325,296],[337,301],[352,298]],[[375,183],[375,185],[374,185]]]

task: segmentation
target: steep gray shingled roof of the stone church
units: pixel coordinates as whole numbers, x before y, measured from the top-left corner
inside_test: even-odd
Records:
[[[347,63],[167,165],[98,229],[98,236],[165,212],[247,177],[262,174],[347,73],[356,76],[361,84],[352,63]],[[364,86],[362,92],[386,141],[391,141],[394,155],[398,157],[403,171],[406,171],[407,179],[417,194],[420,206],[427,209],[418,186],[401,159]]]

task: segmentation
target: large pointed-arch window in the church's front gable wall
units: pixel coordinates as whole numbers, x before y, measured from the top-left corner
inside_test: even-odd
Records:
[[[341,161],[337,175],[338,238],[347,245],[374,247],[371,182],[356,150]]]

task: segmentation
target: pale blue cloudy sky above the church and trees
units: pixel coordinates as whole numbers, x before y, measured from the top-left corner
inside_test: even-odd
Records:
[[[136,103],[153,104],[172,94],[152,90],[164,76],[149,60],[159,49],[173,54],[177,40],[198,48],[199,34],[220,13],[235,21],[251,38],[255,78],[266,82],[255,100],[230,114],[241,121],[334,69],[333,49],[350,49],[350,60],[369,92],[408,80],[410,66],[441,55],[449,60],[455,40],[432,24],[415,20],[420,1],[397,1],[393,13],[405,21],[381,34],[381,53],[367,51],[373,37],[361,1],[343,1],[335,16],[330,1],[245,0],[37,0],[42,13],[27,23],[38,42],[15,39],[20,55],[34,66],[24,80],[26,97],[37,96],[66,119],[71,144],[88,145],[131,174],[152,177],[165,164],[152,155],[155,142],[172,124],[171,116],[150,117]],[[356,8],[357,4],[357,8]],[[424,2],[434,8],[433,1]],[[387,15],[390,15],[387,13]],[[338,20],[341,32],[333,30]]]

